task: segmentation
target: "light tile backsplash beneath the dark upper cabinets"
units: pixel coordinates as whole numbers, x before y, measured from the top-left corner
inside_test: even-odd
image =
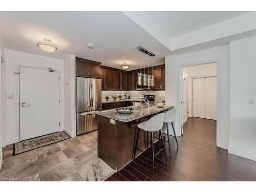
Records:
[[[102,102],[105,101],[105,96],[108,95],[110,97],[109,101],[112,101],[112,95],[122,95],[124,97],[124,93],[130,93],[132,100],[139,100],[140,95],[150,94],[155,95],[156,103],[162,102],[165,100],[165,91],[102,91]]]

